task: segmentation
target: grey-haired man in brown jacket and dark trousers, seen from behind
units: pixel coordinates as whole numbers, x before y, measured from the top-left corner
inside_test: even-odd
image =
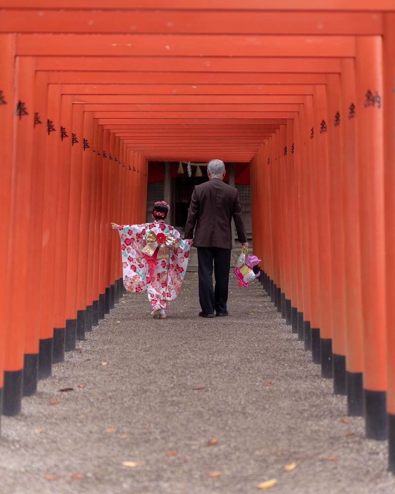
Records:
[[[248,247],[248,242],[237,189],[223,182],[224,163],[211,160],[207,165],[207,175],[208,182],[197,185],[192,193],[184,238],[194,239],[194,247],[197,247],[199,316],[214,317],[214,310],[216,316],[227,316],[232,217],[238,241],[243,247]],[[213,262],[215,289],[212,280]]]

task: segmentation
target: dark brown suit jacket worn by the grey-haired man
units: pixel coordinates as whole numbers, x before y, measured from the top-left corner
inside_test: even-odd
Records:
[[[192,193],[184,238],[193,238],[194,247],[232,248],[232,217],[238,241],[247,242],[237,189],[212,178],[197,185]]]

